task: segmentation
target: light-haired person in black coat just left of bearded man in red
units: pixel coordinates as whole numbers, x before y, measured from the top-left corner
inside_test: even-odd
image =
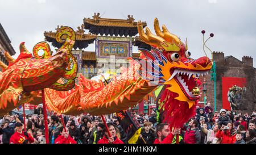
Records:
[[[156,139],[156,134],[153,129],[151,129],[151,122],[146,122],[143,124],[141,135],[137,141],[138,144],[153,144]]]

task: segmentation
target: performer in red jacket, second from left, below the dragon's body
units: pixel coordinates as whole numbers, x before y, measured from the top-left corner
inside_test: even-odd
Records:
[[[60,135],[55,139],[54,144],[77,144],[74,139],[69,135],[68,128],[60,127]]]

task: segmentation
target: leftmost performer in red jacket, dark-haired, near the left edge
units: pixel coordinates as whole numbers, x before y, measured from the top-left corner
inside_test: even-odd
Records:
[[[34,138],[27,132],[22,131],[24,125],[22,123],[15,123],[15,130],[13,136],[10,138],[10,144],[29,144],[34,142]]]

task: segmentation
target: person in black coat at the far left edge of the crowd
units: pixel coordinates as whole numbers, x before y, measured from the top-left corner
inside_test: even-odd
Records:
[[[9,144],[10,138],[14,134],[14,127],[13,125],[9,125],[10,120],[5,119],[5,122],[0,127],[0,135],[2,136],[2,143],[3,144]]]

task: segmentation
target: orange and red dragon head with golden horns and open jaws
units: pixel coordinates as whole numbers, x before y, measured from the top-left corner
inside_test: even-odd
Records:
[[[150,60],[157,65],[159,68],[157,75],[163,85],[168,85],[168,90],[176,93],[174,99],[187,102],[188,107],[191,108],[200,98],[198,77],[205,76],[213,63],[208,57],[200,57],[197,60],[190,58],[191,53],[187,51],[187,39],[184,44],[164,25],[161,31],[157,18],[154,20],[154,28],[156,35],[153,35],[147,27],[145,33],[142,23],[138,22],[139,36],[152,48],[151,51],[140,49],[143,53],[141,58],[144,57],[147,61]]]

